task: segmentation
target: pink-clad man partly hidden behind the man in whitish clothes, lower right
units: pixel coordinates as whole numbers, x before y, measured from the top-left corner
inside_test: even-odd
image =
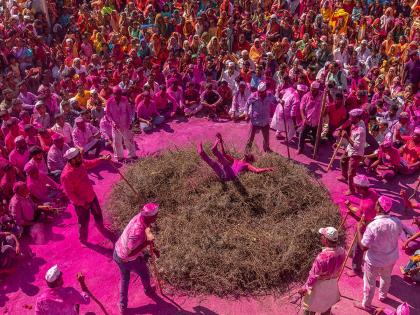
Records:
[[[352,206],[350,201],[347,200],[345,203],[348,208],[348,213],[354,217],[357,221],[363,220],[366,223],[370,223],[376,216],[376,202],[378,201],[378,194],[373,188],[369,188],[370,182],[365,175],[357,175],[354,177],[354,187],[356,193],[358,193],[361,198],[359,206]],[[352,261],[352,273],[348,273],[349,276],[355,276],[361,274],[362,272],[362,263],[363,263],[363,250],[359,245],[354,246],[353,249],[353,261]]]

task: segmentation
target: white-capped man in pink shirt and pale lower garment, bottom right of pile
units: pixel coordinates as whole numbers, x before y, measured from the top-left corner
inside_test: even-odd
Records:
[[[305,285],[299,290],[305,295],[302,301],[304,315],[329,314],[331,307],[340,300],[338,275],[346,253],[337,246],[338,231],[334,227],[321,228],[319,233],[322,251],[315,258]]]

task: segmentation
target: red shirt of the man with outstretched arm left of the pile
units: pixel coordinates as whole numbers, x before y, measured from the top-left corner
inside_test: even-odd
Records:
[[[84,160],[79,167],[73,167],[69,163],[64,167],[61,173],[61,185],[65,194],[75,206],[84,206],[95,199],[96,194],[87,170],[96,167],[101,162],[101,159]]]

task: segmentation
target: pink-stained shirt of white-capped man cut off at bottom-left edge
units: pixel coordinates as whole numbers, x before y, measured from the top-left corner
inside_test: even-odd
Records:
[[[36,299],[36,315],[77,315],[76,304],[89,304],[90,298],[85,292],[67,287],[48,288]]]

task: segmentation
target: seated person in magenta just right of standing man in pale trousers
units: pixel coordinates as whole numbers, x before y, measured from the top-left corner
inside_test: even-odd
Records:
[[[152,131],[156,126],[164,122],[165,117],[161,116],[156,108],[156,103],[152,100],[150,92],[142,94],[143,99],[137,104],[137,118],[140,121],[140,128],[145,132]]]

